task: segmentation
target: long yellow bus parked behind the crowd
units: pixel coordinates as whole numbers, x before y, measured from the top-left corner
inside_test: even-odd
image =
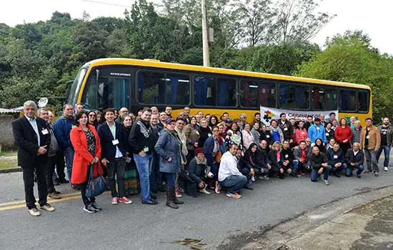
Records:
[[[84,64],[71,84],[67,103],[85,109],[120,109],[136,114],[144,106],[174,117],[189,106],[191,114],[246,114],[252,121],[260,106],[301,111],[339,110],[339,117],[372,117],[369,86],[296,76],[173,64],[145,59],[96,59]]]

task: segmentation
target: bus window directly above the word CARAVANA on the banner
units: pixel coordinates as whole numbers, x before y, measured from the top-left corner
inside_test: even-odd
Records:
[[[309,109],[309,86],[279,84],[282,109]]]

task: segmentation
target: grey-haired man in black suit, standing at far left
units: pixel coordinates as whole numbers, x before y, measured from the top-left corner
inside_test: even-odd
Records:
[[[12,122],[14,139],[19,145],[18,164],[23,170],[26,206],[31,216],[41,215],[36,208],[36,198],[34,197],[34,169],[37,174],[39,206],[46,211],[54,211],[46,198],[48,190],[45,168],[51,144],[51,134],[46,128],[44,119],[35,116],[36,108],[34,101],[26,101],[24,116]]]

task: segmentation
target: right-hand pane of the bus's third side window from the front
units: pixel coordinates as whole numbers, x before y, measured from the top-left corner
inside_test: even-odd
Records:
[[[217,79],[217,106],[236,106],[236,81]]]

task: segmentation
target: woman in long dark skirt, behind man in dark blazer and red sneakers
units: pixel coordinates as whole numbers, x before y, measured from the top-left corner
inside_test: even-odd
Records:
[[[123,126],[126,131],[126,138],[129,138],[131,126],[134,124],[130,115],[124,116]],[[124,171],[124,189],[126,189],[126,196],[139,193],[139,176],[138,169],[136,169],[135,161],[131,154],[131,146],[128,145],[126,150],[126,171]]]

